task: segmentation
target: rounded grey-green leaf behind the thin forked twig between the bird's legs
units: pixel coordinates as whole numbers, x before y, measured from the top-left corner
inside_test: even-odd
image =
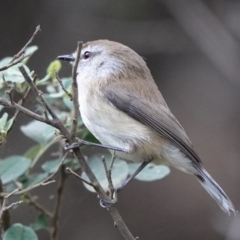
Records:
[[[100,154],[93,155],[89,159],[88,163],[89,163],[89,166],[91,167],[93,173],[97,177],[98,181],[100,182],[101,186],[103,187],[103,189],[105,191],[107,191],[108,190],[108,180],[106,177],[105,169],[104,169],[101,158],[102,158],[102,156]],[[111,163],[111,156],[108,155],[107,157],[105,157],[105,160],[106,160],[107,166],[109,166]],[[128,176],[127,163],[125,161],[115,159],[114,165],[112,168],[112,182],[113,182],[114,188],[120,187],[122,185],[122,183],[126,180],[127,176]],[[84,172],[82,173],[82,178],[89,181],[88,177],[86,176],[86,174]],[[95,190],[88,184],[83,183],[83,185],[89,191],[95,192]]]

